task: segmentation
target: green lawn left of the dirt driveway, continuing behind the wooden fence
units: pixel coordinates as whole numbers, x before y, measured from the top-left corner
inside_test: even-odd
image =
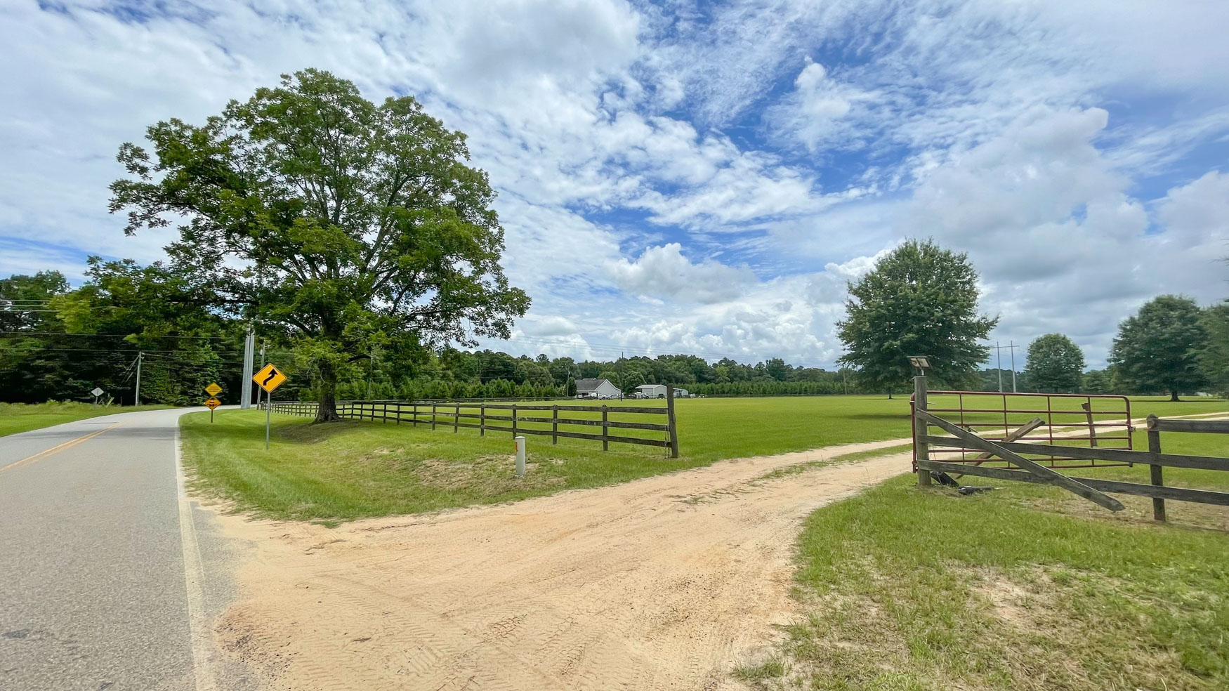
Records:
[[[570,402],[567,402],[570,405]],[[662,406],[664,401],[610,402]],[[541,405],[541,403],[527,403]],[[909,403],[884,396],[789,398],[688,398],[676,402],[681,455],[665,449],[531,435],[528,473],[512,476],[511,434],[474,429],[454,433],[375,422],[312,425],[307,418],[274,414],[273,444],[264,450],[259,411],[219,411],[182,418],[184,462],[199,492],[226,499],[240,510],[280,519],[338,521],[509,502],[563,489],[599,487],[731,457],[772,455],[837,444],[902,439],[909,434]],[[1141,400],[1133,416],[1229,411],[1225,401]],[[442,409],[442,408],[441,408]],[[508,411],[489,409],[492,416]],[[533,411],[548,417],[548,412]],[[560,412],[595,419],[595,412]],[[660,423],[665,416],[626,414],[622,419]],[[408,412],[407,412],[408,419]],[[505,423],[506,424],[506,423]],[[548,423],[522,427],[548,429]],[[576,427],[578,432],[596,432]],[[660,432],[612,430],[661,439]]]

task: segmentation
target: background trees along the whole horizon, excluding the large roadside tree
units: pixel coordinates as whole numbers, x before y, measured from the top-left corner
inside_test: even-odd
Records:
[[[909,389],[908,354],[932,358],[933,389],[998,391],[1002,375],[1003,390],[1010,391],[1010,370],[978,369],[973,361],[984,360],[987,350],[975,341],[993,320],[977,315],[976,273],[956,270],[952,264],[960,263],[967,258],[932,243],[906,243],[881,261],[864,279],[873,289],[853,286],[850,301],[862,306],[853,305],[839,327],[849,355],[836,370],[780,358],[756,364],[686,354],[575,360],[372,343],[347,352],[350,364],[334,373],[333,391],[342,400],[538,398],[575,395],[578,379],[608,379],[627,393],[642,384],[672,384],[705,396],[891,395]],[[885,269],[889,277],[878,275]],[[58,272],[0,279],[0,400],[88,401],[98,386],[104,398],[132,403],[138,353],[144,353],[144,402],[199,403],[210,381],[222,385],[224,402],[237,402],[246,322],[208,300],[194,301],[183,280],[159,263],[100,258],[88,261],[86,282],[76,289]],[[927,311],[927,296],[951,291],[972,294],[939,300]],[[951,333],[967,342],[949,342]],[[278,396],[318,400],[318,358],[267,346],[267,360],[290,374]],[[898,358],[885,354],[893,348]],[[1069,337],[1045,334],[1029,346],[1015,385],[1019,391],[1174,398],[1227,393],[1229,302],[1201,309],[1188,298],[1159,296],[1122,322],[1109,361],[1084,371],[1084,355]]]

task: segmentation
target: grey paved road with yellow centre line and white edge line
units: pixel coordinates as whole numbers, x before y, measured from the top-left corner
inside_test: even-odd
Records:
[[[0,689],[249,686],[213,652],[235,555],[182,494],[184,412],[0,436]]]

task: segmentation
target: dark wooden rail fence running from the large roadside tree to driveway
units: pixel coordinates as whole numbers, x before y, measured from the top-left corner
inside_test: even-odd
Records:
[[[273,412],[315,417],[318,403],[315,401],[273,401]],[[522,413],[528,414],[522,414]],[[570,412],[601,413],[601,419],[581,417],[559,417]],[[462,402],[419,402],[419,401],[338,401],[337,414],[345,419],[381,421],[395,424],[430,425],[477,429],[479,435],[487,432],[506,432],[512,436],[536,434],[549,436],[551,444],[558,444],[559,438],[590,439],[602,443],[602,450],[610,450],[611,444],[639,444],[643,446],[665,448],[671,459],[678,457],[678,429],[675,424],[673,387],[667,387],[664,407],[649,406],[575,406],[575,405],[525,405],[525,403],[462,403]],[[624,416],[665,416],[665,424],[638,422]],[[494,424],[492,424],[494,423]],[[528,424],[549,424],[551,429],[525,427]],[[600,427],[600,434],[559,429],[564,427]],[[611,430],[638,429],[662,433],[661,439],[646,436],[623,436],[611,434]]]

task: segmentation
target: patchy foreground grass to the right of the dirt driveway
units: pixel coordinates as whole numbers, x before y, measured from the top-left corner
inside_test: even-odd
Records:
[[[1137,433],[1136,448],[1145,446]],[[1229,456],[1229,435],[1163,433]],[[1069,471],[1148,482],[1148,467]],[[1165,468],[1229,491],[1229,472]],[[1229,508],[1062,489],[962,497],[913,476],[815,511],[799,539],[803,618],[739,675],[760,689],[1229,689]]]

